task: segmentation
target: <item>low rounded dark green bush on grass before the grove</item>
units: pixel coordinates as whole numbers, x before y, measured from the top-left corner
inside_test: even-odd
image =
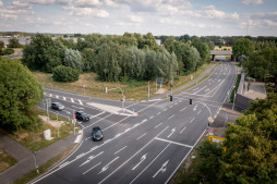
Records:
[[[58,65],[53,69],[52,78],[57,82],[79,81],[79,72],[70,66]]]

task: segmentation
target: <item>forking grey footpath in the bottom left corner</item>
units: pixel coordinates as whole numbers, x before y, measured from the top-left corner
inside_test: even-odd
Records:
[[[61,139],[60,142],[57,142],[56,144],[52,144],[37,151],[36,152],[37,165],[40,167],[50,159],[68,150],[70,147],[77,146],[77,144],[74,144],[76,137],[77,134],[75,136],[70,135]],[[31,152],[20,143],[13,140],[12,138],[9,138],[8,136],[1,133],[0,133],[0,147],[3,148],[8,154],[13,156],[17,160],[16,164],[0,173],[1,184],[11,183],[12,181],[20,179],[24,174],[36,169],[33,152]]]

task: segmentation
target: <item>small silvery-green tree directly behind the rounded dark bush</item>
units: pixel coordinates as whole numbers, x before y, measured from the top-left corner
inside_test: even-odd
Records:
[[[82,61],[82,56],[80,51],[73,49],[65,49],[63,65],[82,71],[84,63]]]

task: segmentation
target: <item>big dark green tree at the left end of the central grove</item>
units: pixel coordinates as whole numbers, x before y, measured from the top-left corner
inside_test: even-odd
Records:
[[[36,34],[23,50],[23,63],[32,70],[51,73],[55,66],[62,64],[64,50],[64,46],[59,40]]]

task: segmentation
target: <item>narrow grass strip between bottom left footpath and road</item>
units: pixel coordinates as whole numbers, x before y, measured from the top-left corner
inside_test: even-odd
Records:
[[[52,165],[57,164],[60,160],[62,160],[63,158],[65,158],[73,149],[75,148],[75,146],[72,146],[71,148],[69,148],[68,150],[63,151],[62,154],[58,155],[57,157],[50,159],[48,162],[46,162],[45,164],[38,167],[38,171],[40,174],[47,172]],[[12,184],[24,184],[24,183],[28,183],[29,181],[34,180],[35,177],[38,176],[37,170],[33,170],[29,173],[23,175],[22,177],[15,180],[12,182]]]

